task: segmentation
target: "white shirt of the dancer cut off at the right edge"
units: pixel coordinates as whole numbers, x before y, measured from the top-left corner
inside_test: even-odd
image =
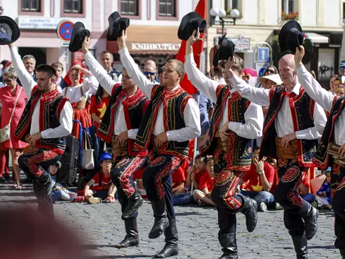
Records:
[[[321,105],[326,111],[330,112],[333,107],[333,101],[337,95],[328,92],[320,86],[319,82],[306,70],[304,66],[296,69],[299,80],[308,95]],[[335,144],[345,144],[345,111],[340,113],[334,126],[334,141]]]

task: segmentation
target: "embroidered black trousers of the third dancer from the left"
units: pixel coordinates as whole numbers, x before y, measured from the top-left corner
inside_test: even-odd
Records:
[[[150,164],[143,172],[143,184],[148,200],[165,199],[166,211],[169,220],[175,219],[175,210],[172,204],[171,174],[181,166],[183,160],[172,155],[149,155]]]

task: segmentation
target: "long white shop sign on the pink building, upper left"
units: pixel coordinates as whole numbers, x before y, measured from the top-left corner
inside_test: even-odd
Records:
[[[56,30],[60,18],[18,17],[18,26],[21,29]]]

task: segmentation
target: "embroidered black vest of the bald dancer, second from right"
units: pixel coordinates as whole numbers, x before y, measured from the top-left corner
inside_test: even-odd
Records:
[[[264,123],[260,158],[277,158],[275,137],[275,119],[282,106],[284,98],[284,86],[277,86],[270,89],[270,107]],[[291,115],[293,117],[293,128],[295,131],[302,131],[314,125],[315,101],[309,97],[304,88],[299,88],[299,95],[290,97]],[[297,140],[298,162],[302,167],[313,167],[313,157],[315,155],[317,140]]]

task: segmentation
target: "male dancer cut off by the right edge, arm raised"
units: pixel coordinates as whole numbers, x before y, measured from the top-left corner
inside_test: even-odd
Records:
[[[331,173],[331,196],[332,208],[335,214],[335,247],[339,249],[342,258],[345,258],[345,97],[337,96],[328,92],[309,73],[302,63],[304,47],[299,46],[295,54],[295,66],[299,81],[306,89],[308,95],[315,100],[325,111],[331,113],[328,116],[324,134],[317,148],[314,163],[326,170],[332,167]],[[339,155],[328,153],[328,144],[336,144],[339,148]]]

